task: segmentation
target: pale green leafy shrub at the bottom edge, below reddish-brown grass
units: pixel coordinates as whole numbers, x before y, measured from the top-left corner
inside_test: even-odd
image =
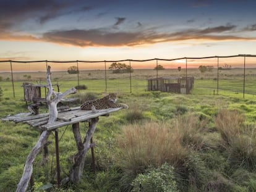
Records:
[[[174,168],[171,165],[163,164],[159,168],[150,167],[146,173],[140,173],[132,182],[132,191],[178,191],[174,180]]]

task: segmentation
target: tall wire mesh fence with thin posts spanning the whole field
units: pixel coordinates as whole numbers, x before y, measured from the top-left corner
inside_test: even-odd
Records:
[[[113,64],[122,64],[121,69]],[[121,61],[0,61],[4,93],[23,97],[23,82],[46,85],[46,68],[61,91],[86,86],[87,91],[135,93],[148,91],[148,80],[162,77],[194,77],[190,94],[256,94],[256,56],[182,57]],[[112,66],[112,67],[111,67]],[[75,67],[79,73],[68,73]],[[124,70],[128,69],[128,70]]]

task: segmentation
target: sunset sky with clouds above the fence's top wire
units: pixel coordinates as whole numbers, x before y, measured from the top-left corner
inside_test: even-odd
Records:
[[[0,60],[256,54],[255,0],[0,0]]]

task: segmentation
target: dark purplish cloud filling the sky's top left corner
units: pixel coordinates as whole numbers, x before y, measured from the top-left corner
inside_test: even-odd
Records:
[[[0,2],[0,27],[1,30],[9,30],[32,18],[43,24],[61,15],[92,9],[92,7],[83,6],[79,3],[80,1],[2,0]]]

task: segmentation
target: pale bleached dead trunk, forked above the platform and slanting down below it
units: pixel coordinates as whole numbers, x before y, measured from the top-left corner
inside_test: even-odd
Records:
[[[67,94],[74,93],[76,91],[75,88],[71,88],[70,90],[67,90],[62,94],[59,94],[59,93],[54,94],[53,86],[50,80],[50,75],[51,75],[51,67],[48,66],[47,73],[46,73],[46,81],[48,83],[48,88],[49,88],[49,92],[46,97],[46,101],[49,109],[48,124],[56,121],[58,117],[58,111],[57,111],[58,102],[61,101],[61,99],[64,98],[64,96],[66,96]],[[51,99],[51,96],[54,96],[54,98]],[[35,157],[38,154],[38,152],[40,152],[40,149],[43,148],[43,146],[45,146],[50,133],[51,131],[48,131],[48,130],[43,131],[35,147],[32,149],[30,154],[28,154],[28,157],[23,169],[23,175],[22,175],[22,178],[20,178],[19,184],[17,185],[16,192],[23,192],[23,191],[25,192],[27,190],[28,183],[33,173],[33,162],[35,161]]]

